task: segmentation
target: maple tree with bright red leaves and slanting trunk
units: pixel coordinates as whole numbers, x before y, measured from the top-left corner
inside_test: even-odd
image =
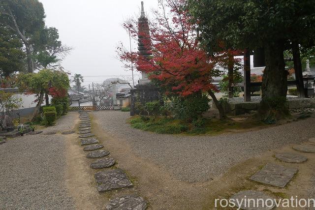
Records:
[[[150,34],[141,30],[137,20],[126,21],[124,27],[136,39],[142,40],[151,56],[142,56],[137,52],[128,52],[118,47],[120,59],[129,68],[130,63],[138,70],[156,79],[166,89],[165,94],[188,96],[196,92],[208,92],[224,117],[221,104],[214,92],[213,77],[221,75],[220,66],[228,66],[237,52],[225,51],[209,55],[202,49],[196,23],[192,23],[185,10],[185,0],[160,0],[159,9],[153,11],[154,19],[149,21]],[[231,56],[232,55],[232,56]]]

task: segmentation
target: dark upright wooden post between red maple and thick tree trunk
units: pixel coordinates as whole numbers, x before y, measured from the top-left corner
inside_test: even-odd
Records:
[[[251,54],[244,51],[244,101],[251,101]]]

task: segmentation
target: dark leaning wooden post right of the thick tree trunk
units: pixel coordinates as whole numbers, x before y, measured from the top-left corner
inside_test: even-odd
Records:
[[[292,41],[292,54],[294,62],[297,95],[300,98],[305,98],[300,47],[296,41]]]

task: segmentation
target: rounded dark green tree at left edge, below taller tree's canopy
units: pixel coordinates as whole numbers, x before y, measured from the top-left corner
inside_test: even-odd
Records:
[[[0,76],[9,77],[15,72],[22,72],[26,68],[26,55],[23,52],[23,43],[15,33],[7,29],[0,28]],[[1,83],[2,85],[2,83]]]

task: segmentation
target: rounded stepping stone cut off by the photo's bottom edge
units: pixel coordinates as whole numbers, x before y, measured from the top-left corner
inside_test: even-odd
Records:
[[[105,210],[145,210],[147,202],[135,195],[125,195],[109,202]]]

